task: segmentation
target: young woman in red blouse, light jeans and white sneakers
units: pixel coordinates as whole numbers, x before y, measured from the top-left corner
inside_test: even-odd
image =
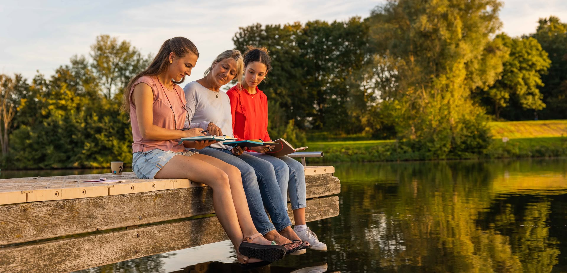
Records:
[[[266,78],[270,65],[270,56],[265,48],[249,47],[244,54],[244,80],[227,91],[232,113],[232,131],[238,140],[261,139],[270,142],[268,134],[268,97],[258,88]],[[289,156],[274,157],[266,155],[274,146],[251,147],[246,152],[259,157],[274,166],[283,200],[289,198],[295,217],[294,231],[303,241],[309,242],[312,249],[327,250],[327,245],[319,242],[305,223],[306,189],[303,165]],[[286,206],[287,208],[287,206]]]

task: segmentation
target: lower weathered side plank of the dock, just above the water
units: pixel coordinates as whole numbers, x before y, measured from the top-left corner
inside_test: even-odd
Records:
[[[336,196],[307,201],[307,221],[336,215]],[[0,248],[0,273],[70,272],[226,239],[217,217],[206,217],[11,246]]]

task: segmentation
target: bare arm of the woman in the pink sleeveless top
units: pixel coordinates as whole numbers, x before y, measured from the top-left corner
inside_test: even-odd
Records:
[[[132,103],[136,105],[136,117],[138,118],[138,128],[142,138],[153,140],[172,140],[188,136],[199,136],[203,129],[194,128],[191,130],[171,130],[154,125],[154,94],[151,87],[146,83],[138,83],[132,91]]]

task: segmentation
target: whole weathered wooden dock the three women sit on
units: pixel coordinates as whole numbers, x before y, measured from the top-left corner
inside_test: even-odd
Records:
[[[338,215],[334,172],[331,166],[305,167],[307,221]],[[114,184],[81,182],[99,177],[112,179],[0,180],[0,273],[70,272],[228,239],[208,186],[141,180],[133,173]]]

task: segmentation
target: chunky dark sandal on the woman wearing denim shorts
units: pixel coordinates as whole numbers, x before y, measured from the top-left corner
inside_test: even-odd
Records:
[[[266,262],[276,262],[284,258],[286,254],[284,246],[277,245],[274,241],[272,241],[272,245],[260,245],[252,242],[254,238],[259,236],[262,236],[262,234],[253,234],[244,238],[242,243],[240,243],[238,251],[246,257],[244,262],[248,263],[248,257],[261,259]]]

